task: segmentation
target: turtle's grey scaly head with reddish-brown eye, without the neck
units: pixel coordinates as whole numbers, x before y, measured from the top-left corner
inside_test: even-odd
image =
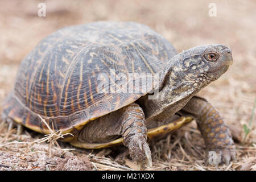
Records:
[[[205,86],[233,64],[232,51],[221,44],[197,46],[180,53],[179,64],[187,78]]]

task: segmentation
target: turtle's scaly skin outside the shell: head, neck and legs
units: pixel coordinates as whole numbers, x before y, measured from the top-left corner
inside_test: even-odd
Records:
[[[148,95],[143,96],[139,98],[137,104],[131,104],[101,117],[99,120],[102,122],[93,122],[94,124],[92,124],[97,127],[89,127],[89,123],[84,130],[94,133],[94,135],[90,135],[92,139],[93,137],[97,138],[97,132],[100,132],[104,139],[101,129],[99,131],[92,129],[104,127],[106,122],[112,123],[113,126],[120,126],[122,123],[122,132],[119,129],[118,131],[123,136],[124,144],[129,148],[131,157],[137,162],[141,162],[143,159],[148,159],[148,154],[150,154],[146,142],[146,126],[151,128],[151,123],[152,125],[159,122],[164,124],[166,119],[171,118],[177,111],[183,108],[184,110],[192,108],[189,111],[197,118],[208,150],[221,153],[222,161],[228,164],[235,155],[228,127],[209,102],[197,100],[193,96],[210,82],[217,80],[232,63],[230,48],[219,44],[195,47],[179,53],[172,57],[162,72],[164,79],[159,84],[158,98],[149,100]],[[103,125],[100,126],[100,123]],[[112,132],[114,136],[117,135],[117,130],[105,132],[106,136],[111,136]],[[86,132],[84,134],[81,132],[79,138],[84,138],[84,135]]]

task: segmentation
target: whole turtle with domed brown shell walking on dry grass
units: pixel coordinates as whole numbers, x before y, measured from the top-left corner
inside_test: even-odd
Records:
[[[140,23],[69,26],[24,57],[3,101],[2,120],[42,134],[50,127],[80,148],[123,144],[131,159],[148,166],[149,140],[196,120],[207,151],[229,164],[236,159],[229,128],[198,93],[232,64],[228,46],[207,44],[178,53]]]

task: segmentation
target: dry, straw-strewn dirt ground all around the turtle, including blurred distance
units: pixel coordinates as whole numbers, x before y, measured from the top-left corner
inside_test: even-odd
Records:
[[[38,3],[46,3],[46,17]],[[209,16],[209,3],[217,16]],[[256,1],[0,1],[0,101],[13,87],[20,61],[59,28],[97,20],[134,21],[162,34],[181,52],[210,43],[232,48],[234,64],[201,91],[230,126],[237,161],[204,166],[205,146],[196,123],[151,143],[153,167],[146,170],[256,170]],[[0,103],[1,104],[1,103]],[[1,112],[1,107],[0,107]],[[249,124],[251,122],[251,125]],[[244,125],[250,128],[245,138]],[[68,143],[44,142],[44,135],[24,130],[7,133],[0,124],[0,170],[132,170],[137,165],[124,147],[83,150]],[[16,141],[16,142],[15,142]],[[18,143],[21,142],[21,143]]]

